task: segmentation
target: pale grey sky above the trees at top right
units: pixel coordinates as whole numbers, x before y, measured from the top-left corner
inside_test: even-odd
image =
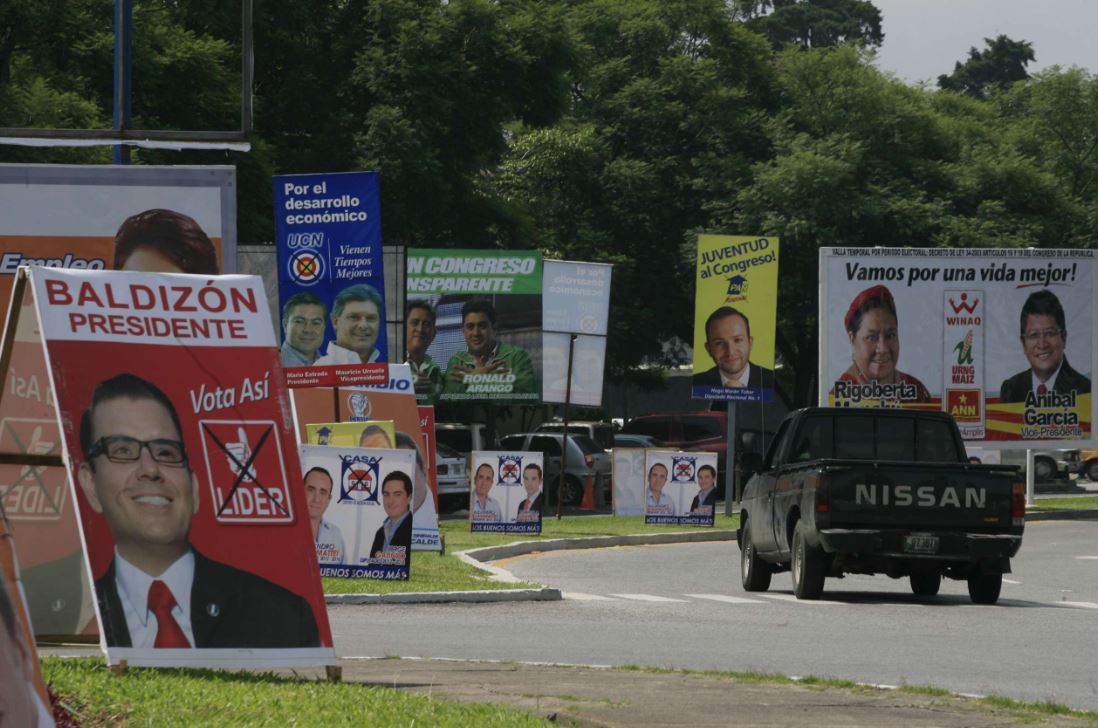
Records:
[[[1028,41],[1030,74],[1079,66],[1098,74],[1098,0],[872,0],[884,19],[877,67],[909,83],[949,74],[999,34]]]

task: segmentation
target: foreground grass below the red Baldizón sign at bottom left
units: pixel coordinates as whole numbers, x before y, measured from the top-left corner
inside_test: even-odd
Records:
[[[436,701],[354,683],[250,672],[137,669],[112,675],[101,659],[42,659],[81,726],[548,726],[514,708]]]

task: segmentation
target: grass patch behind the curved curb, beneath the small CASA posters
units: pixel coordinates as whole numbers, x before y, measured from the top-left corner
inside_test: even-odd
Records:
[[[735,530],[739,516],[717,515],[715,528]],[[504,583],[489,581],[488,574],[459,560],[455,553],[482,546],[502,546],[515,541],[552,540],[585,536],[624,536],[629,534],[661,534],[691,530],[694,526],[646,526],[643,516],[569,516],[557,520],[547,517],[541,522],[541,534],[483,534],[470,533],[467,520],[439,523],[446,542],[446,553],[412,553],[412,578],[407,581],[380,581],[376,579],[322,580],[325,594],[392,594],[399,592],[463,592],[493,589],[538,589],[540,584]]]

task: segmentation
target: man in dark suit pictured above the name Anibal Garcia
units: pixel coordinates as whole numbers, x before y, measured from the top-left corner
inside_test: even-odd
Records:
[[[1087,394],[1090,380],[1067,363],[1067,324],[1064,306],[1047,289],[1034,291],[1022,304],[1022,351],[1030,368],[1004,380],[999,402],[1024,402],[1030,393]]]

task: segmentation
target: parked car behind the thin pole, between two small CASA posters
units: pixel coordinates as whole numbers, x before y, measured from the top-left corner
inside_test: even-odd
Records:
[[[563,435],[553,433],[524,433],[507,435],[500,441],[502,450],[541,452],[545,464],[545,491],[551,504],[557,503],[560,488],[560,453]],[[613,460],[598,443],[586,435],[568,436],[568,466],[564,471],[564,503],[578,505],[583,500],[583,482],[591,478],[596,502],[609,502]]]

